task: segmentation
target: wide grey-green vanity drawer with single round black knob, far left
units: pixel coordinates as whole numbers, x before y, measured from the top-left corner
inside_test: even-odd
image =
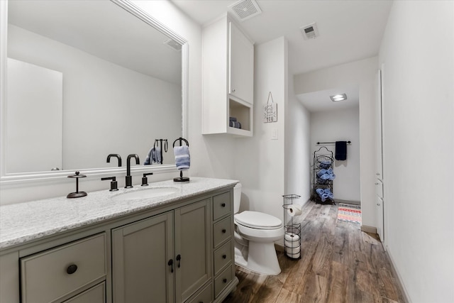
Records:
[[[102,233],[21,258],[21,302],[54,302],[105,276]]]

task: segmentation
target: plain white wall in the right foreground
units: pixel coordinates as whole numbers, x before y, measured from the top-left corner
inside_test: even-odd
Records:
[[[387,251],[411,302],[454,302],[454,2],[394,1],[380,63]]]

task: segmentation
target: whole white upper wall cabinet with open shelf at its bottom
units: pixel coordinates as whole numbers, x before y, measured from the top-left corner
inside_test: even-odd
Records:
[[[254,44],[228,16],[204,27],[202,65],[202,133],[253,136]]]

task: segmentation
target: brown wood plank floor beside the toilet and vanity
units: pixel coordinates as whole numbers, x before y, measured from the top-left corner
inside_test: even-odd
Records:
[[[404,302],[380,240],[338,221],[337,213],[337,205],[304,204],[294,217],[301,222],[301,259],[278,252],[276,276],[237,266],[240,282],[223,303]]]

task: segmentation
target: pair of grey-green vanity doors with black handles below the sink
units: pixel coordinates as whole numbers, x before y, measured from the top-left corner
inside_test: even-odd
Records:
[[[205,199],[112,231],[114,302],[181,303],[209,283],[209,202]]]

